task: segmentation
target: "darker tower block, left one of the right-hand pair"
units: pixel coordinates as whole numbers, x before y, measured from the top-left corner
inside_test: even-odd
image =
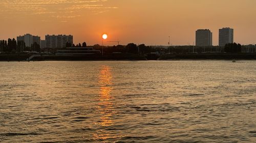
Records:
[[[210,30],[196,31],[196,46],[212,46],[212,33]]]

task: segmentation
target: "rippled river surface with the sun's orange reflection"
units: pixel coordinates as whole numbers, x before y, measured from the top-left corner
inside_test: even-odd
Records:
[[[0,142],[255,142],[256,61],[1,62]]]

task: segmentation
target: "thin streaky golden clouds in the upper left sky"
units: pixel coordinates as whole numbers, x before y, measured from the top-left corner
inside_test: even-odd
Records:
[[[54,17],[63,13],[70,13],[65,18],[74,18],[84,10],[94,14],[107,12],[106,9],[116,9],[117,7],[106,6],[107,0],[1,0],[0,12],[6,14],[26,14],[26,15],[49,15]],[[76,14],[74,14],[76,13]]]

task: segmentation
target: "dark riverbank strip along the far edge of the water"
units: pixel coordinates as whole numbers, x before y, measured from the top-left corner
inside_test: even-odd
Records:
[[[145,60],[256,60],[256,53],[189,53],[142,56],[132,53],[106,53],[89,55],[0,54],[0,61],[145,61]]]

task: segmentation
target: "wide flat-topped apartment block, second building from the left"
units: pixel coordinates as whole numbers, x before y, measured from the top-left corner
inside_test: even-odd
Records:
[[[66,43],[73,44],[72,35],[46,35],[46,48],[65,48]]]

